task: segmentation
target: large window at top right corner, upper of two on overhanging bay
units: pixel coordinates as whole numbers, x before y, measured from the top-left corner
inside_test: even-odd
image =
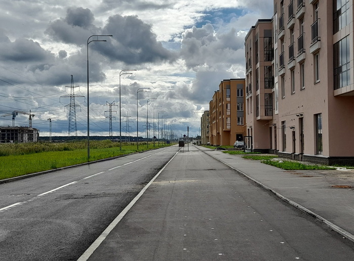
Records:
[[[349,0],[333,0],[333,33],[348,25],[351,21]]]

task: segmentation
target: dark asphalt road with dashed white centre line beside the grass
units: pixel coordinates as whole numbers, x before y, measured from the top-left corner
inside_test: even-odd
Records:
[[[76,260],[176,151],[162,148],[0,184],[0,260]]]

